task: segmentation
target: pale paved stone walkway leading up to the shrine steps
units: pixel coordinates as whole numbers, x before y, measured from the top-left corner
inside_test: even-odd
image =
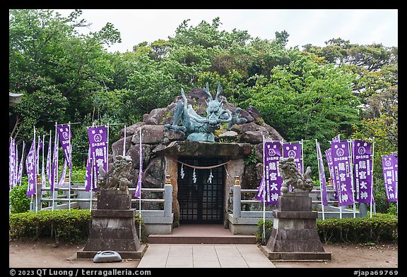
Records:
[[[257,245],[150,244],[137,268],[271,267]]]

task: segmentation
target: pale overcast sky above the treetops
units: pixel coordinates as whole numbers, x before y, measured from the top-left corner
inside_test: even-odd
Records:
[[[68,16],[73,9],[55,9]],[[87,32],[97,32],[112,23],[122,42],[108,51],[131,51],[140,42],[154,42],[175,35],[182,21],[196,26],[220,18],[219,30],[246,30],[252,37],[275,39],[276,32],[288,32],[287,47],[312,44],[324,47],[329,39],[352,44],[381,43],[398,47],[397,9],[83,9],[81,18],[92,23]],[[82,32],[86,32],[83,30]]]

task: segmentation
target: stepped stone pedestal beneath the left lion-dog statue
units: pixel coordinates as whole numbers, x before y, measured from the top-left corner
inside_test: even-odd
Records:
[[[99,251],[116,251],[122,259],[141,259],[141,245],[134,224],[135,209],[131,209],[129,192],[102,190],[97,209],[92,210],[92,228],[85,247],[76,253],[77,259],[93,259]]]

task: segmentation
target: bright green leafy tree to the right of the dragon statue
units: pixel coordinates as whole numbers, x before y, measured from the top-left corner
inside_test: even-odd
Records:
[[[243,106],[256,106],[264,121],[288,141],[328,141],[338,133],[350,137],[358,121],[360,101],[351,87],[355,76],[331,63],[293,49],[293,61],[261,75]]]

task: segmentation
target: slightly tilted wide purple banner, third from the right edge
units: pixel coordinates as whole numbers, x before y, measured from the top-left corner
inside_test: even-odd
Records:
[[[354,204],[352,190],[353,168],[351,168],[349,142],[347,140],[331,142],[331,156],[338,190],[338,205],[352,205]]]

